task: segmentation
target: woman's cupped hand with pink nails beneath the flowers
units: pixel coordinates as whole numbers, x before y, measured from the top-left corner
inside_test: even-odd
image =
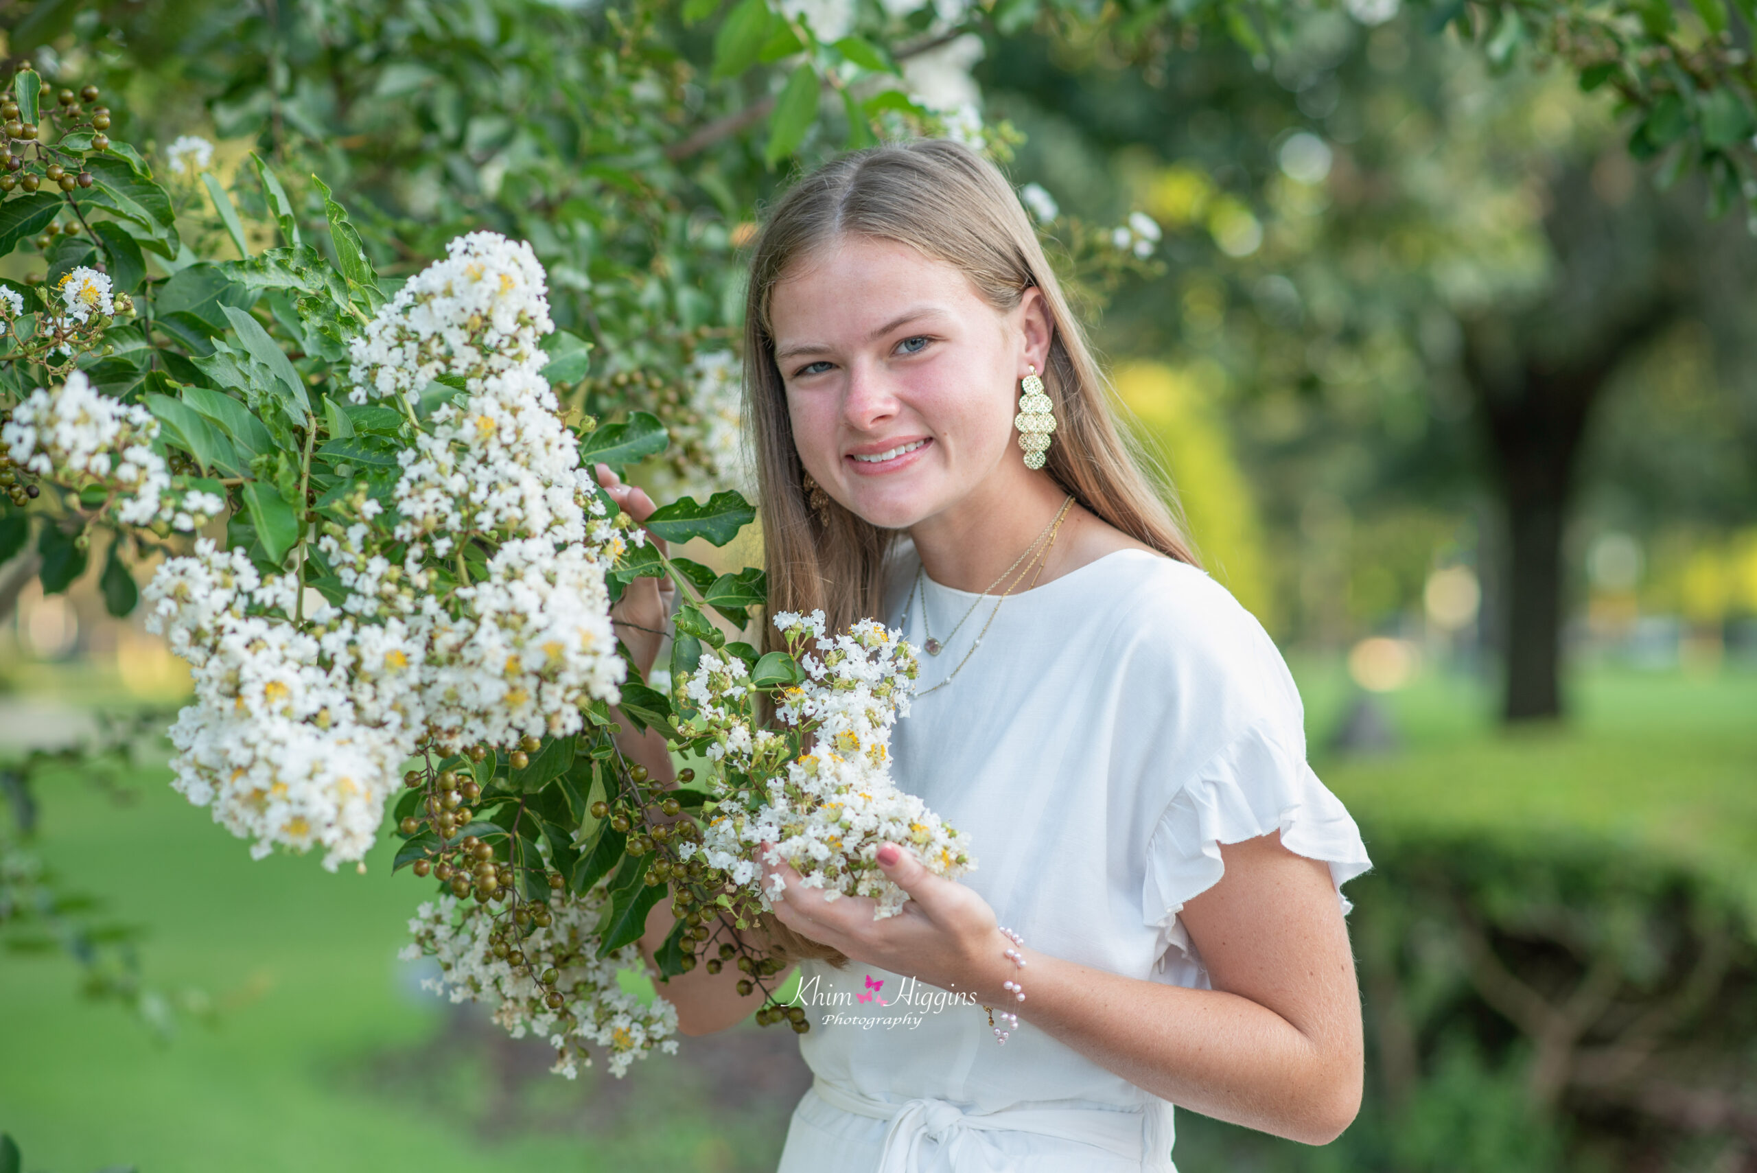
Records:
[[[759,859],[766,860],[771,846],[764,843]],[[998,997],[1001,982],[1010,976],[1003,957],[1009,941],[987,901],[956,880],[933,874],[894,843],[878,848],[878,866],[910,897],[898,915],[884,920],[873,920],[878,903],[870,896],[831,901],[822,889],[805,887],[791,864],[764,862],[764,882],[775,874],[787,882],[787,890],[773,901],[775,918],[854,961],[942,990]]]

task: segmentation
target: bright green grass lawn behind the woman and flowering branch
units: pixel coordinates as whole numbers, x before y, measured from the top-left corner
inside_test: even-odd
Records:
[[[1492,730],[1483,688],[1427,678],[1388,699],[1404,748],[1383,759],[1327,753],[1349,692],[1328,666],[1300,680],[1312,760],[1369,848],[1404,825],[1601,834],[1694,859],[1757,908],[1757,676],[1599,674],[1576,683],[1573,727],[1516,736]],[[383,848],[364,876],[251,862],[163,781],[141,778],[130,806],[47,787],[42,852],[149,927],[151,985],[223,1010],[156,1043],[81,1001],[67,962],[0,959],[0,1129],[26,1169],[773,1168],[799,1090],[791,1036],[685,1040],[685,1062],[654,1057],[622,1085],[548,1076],[539,1047],[411,989],[395,952],[423,885],[390,876]],[[703,1097],[719,1105],[705,1122],[669,1113]]]

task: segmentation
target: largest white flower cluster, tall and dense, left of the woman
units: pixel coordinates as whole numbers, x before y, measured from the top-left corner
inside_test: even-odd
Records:
[[[257,855],[322,845],[325,867],[357,860],[420,746],[569,734],[583,706],[618,697],[604,569],[622,537],[541,378],[536,339],[553,328],[543,270],[529,246],[492,234],[450,253],[355,344],[357,399],[404,397],[437,376],[467,399],[404,450],[394,530],[374,525],[383,509],[362,488],[346,502],[358,520],[316,543],[341,604],[318,606],[299,632],[297,579],[258,581],[242,553],[209,543],[148,588],[151,625],[195,669],[197,702],[172,734],[176,785],[253,836]],[[457,544],[473,537],[494,550],[474,576]],[[450,555],[459,581],[441,592],[430,564]]]

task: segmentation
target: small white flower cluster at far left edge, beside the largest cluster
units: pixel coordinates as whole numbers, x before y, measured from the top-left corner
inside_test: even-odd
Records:
[[[37,388],[0,430],[12,464],[72,485],[97,483],[116,493],[123,525],[167,522],[195,530],[225,509],[213,493],[170,495],[165,458],[153,451],[158,420],[139,404],[100,393],[84,371],[53,390]],[[209,507],[211,506],[211,507]]]

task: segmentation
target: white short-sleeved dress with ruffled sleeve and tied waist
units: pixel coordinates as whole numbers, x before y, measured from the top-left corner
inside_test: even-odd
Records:
[[[894,565],[893,625],[921,564],[903,543]],[[905,637],[926,644],[922,601],[945,639],[977,599],[924,579]],[[917,692],[993,606],[921,653]],[[898,722],[893,752],[898,785],[972,832],[963,883],[1000,924],[1132,978],[1209,985],[1177,913],[1221,878],[1219,843],[1279,829],[1330,864],[1339,897],[1369,867],[1305,764],[1298,692],[1262,625],[1204,571],[1140,550],[1010,595],[958,680]],[[815,1080],[778,1173],[1172,1171],[1172,1106],[1030,1020],[1001,1047],[945,990],[857,961],[799,969]]]

